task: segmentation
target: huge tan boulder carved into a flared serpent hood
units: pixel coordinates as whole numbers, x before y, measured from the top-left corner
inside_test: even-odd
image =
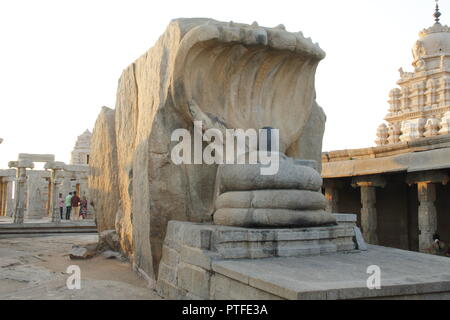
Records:
[[[94,129],[91,187],[98,189],[92,198],[100,225],[110,226],[118,206],[122,249],[132,252],[136,267],[156,278],[169,220],[211,221],[217,166],[170,160],[172,132],[193,130],[188,102],[229,128],[280,128],[282,152],[320,163],[325,117],[314,100],[314,77],[324,56],[282,26],[178,19],[125,69],[114,124],[102,111]],[[102,212],[106,203],[112,206]]]

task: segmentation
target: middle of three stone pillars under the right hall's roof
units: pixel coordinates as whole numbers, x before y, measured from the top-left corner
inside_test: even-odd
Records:
[[[376,207],[376,187],[384,188],[386,180],[382,176],[360,176],[353,178],[353,187],[361,192],[361,229],[364,240],[378,244],[378,214]]]

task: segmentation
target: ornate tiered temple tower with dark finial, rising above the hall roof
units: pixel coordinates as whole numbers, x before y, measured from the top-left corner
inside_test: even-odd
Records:
[[[450,28],[439,22],[419,33],[413,46],[413,72],[399,69],[398,87],[389,93],[386,123],[377,130],[378,146],[450,133]]]

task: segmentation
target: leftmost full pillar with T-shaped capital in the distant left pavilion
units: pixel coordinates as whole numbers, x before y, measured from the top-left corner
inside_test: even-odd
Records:
[[[10,168],[17,168],[16,176],[16,195],[14,204],[14,223],[22,224],[24,222],[25,207],[25,183],[27,181],[27,168],[33,169],[34,164],[28,160],[10,161]]]

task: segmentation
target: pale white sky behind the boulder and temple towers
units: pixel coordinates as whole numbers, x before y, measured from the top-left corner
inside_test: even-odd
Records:
[[[324,151],[374,145],[398,69],[412,71],[432,0],[1,1],[0,168],[18,153],[68,162],[75,140],[114,107],[122,70],[171,19],[208,17],[302,31],[325,50],[316,77]],[[441,23],[450,0],[441,0]]]

